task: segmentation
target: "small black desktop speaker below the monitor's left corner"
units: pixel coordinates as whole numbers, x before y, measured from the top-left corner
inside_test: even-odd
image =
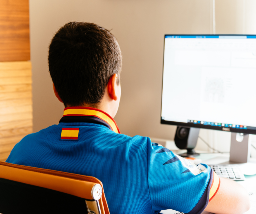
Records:
[[[199,154],[195,152],[198,135],[198,128],[186,128],[177,126],[174,142],[179,149],[186,149],[187,153],[180,154],[181,157],[195,157]]]

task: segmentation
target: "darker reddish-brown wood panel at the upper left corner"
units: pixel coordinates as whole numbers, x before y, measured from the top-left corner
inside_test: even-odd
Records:
[[[0,0],[0,61],[27,60],[29,0]]]

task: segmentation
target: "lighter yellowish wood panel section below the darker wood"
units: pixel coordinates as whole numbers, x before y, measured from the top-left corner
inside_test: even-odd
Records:
[[[31,62],[0,62],[0,161],[32,133]]]

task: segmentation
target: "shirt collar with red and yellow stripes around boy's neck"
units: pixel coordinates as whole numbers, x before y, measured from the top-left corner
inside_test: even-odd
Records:
[[[106,112],[96,108],[67,107],[64,109],[63,117],[61,118],[60,122],[82,122],[81,117],[82,120],[84,120],[83,122],[91,122],[97,124],[99,124],[97,121],[100,119],[103,122],[102,125],[105,125],[115,133],[120,133],[115,120]]]

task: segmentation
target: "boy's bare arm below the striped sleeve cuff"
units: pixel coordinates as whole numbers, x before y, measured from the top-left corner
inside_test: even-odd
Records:
[[[220,178],[220,187],[205,211],[216,214],[242,214],[250,209],[249,195],[233,180]]]

